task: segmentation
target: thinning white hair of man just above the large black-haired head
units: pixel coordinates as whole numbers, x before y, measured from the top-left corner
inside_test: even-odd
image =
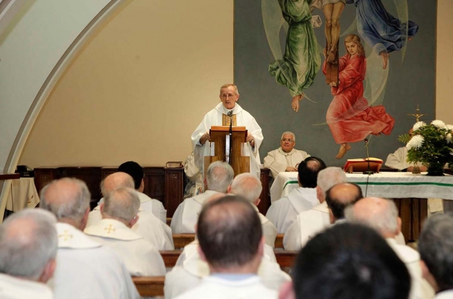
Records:
[[[372,198],[359,199],[358,204],[364,200],[373,200]],[[398,229],[398,208],[391,199],[381,199],[386,204],[378,208],[372,206],[368,210],[358,211],[358,206],[349,206],[344,210],[344,216],[348,221],[364,224],[377,230],[381,234],[395,233]]]

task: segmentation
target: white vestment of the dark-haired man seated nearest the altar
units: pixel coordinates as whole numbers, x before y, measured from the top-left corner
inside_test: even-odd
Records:
[[[278,233],[286,230],[294,223],[299,213],[318,206],[316,188],[299,187],[290,192],[288,197],[274,201],[266,213],[266,217],[277,227]]]

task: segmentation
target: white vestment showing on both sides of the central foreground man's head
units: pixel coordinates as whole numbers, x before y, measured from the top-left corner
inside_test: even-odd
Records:
[[[198,241],[188,244],[184,247],[184,251],[179,256],[172,271],[165,275],[165,299],[175,298],[190,289],[194,289],[201,283],[202,278],[208,275],[210,275],[209,266],[201,260],[198,254]],[[281,271],[270,246],[265,246],[258,275],[266,287],[276,291],[279,290],[281,284],[291,280],[287,273]]]

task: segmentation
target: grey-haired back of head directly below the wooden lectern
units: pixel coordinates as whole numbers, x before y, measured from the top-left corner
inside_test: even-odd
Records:
[[[225,193],[234,178],[234,171],[230,164],[215,161],[207,167],[207,189]]]

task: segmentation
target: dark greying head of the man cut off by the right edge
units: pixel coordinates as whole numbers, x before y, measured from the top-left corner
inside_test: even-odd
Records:
[[[453,214],[429,217],[418,240],[423,277],[436,292],[436,299],[453,298]]]

